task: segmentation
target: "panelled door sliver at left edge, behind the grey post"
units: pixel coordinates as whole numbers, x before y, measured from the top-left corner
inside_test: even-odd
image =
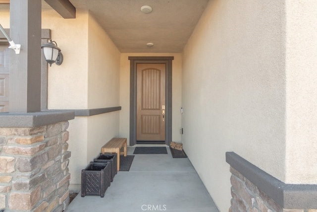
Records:
[[[0,112],[9,111],[9,49],[0,46]]]

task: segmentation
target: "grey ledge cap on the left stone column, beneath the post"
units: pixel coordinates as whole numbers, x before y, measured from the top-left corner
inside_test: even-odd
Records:
[[[44,111],[34,113],[0,113],[0,127],[40,127],[74,119],[73,111]]]

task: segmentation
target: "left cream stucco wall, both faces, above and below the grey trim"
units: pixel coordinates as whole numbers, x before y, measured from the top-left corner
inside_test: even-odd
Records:
[[[63,19],[45,9],[42,28],[52,30],[52,39],[64,56],[61,66],[49,67],[49,109],[119,106],[120,52],[89,11],[77,10],[76,19]],[[118,136],[119,111],[75,117],[69,123],[70,184],[77,189],[81,169],[107,141]]]

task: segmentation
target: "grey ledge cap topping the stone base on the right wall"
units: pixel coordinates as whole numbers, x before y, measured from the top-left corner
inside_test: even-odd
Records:
[[[283,183],[234,152],[226,152],[226,162],[283,209],[317,209],[316,184]]]

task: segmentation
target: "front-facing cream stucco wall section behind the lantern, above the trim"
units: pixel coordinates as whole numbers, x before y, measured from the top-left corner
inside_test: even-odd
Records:
[[[52,30],[62,65],[49,67],[48,108],[85,109],[88,105],[88,11],[64,19],[55,10],[42,11],[42,28]]]

